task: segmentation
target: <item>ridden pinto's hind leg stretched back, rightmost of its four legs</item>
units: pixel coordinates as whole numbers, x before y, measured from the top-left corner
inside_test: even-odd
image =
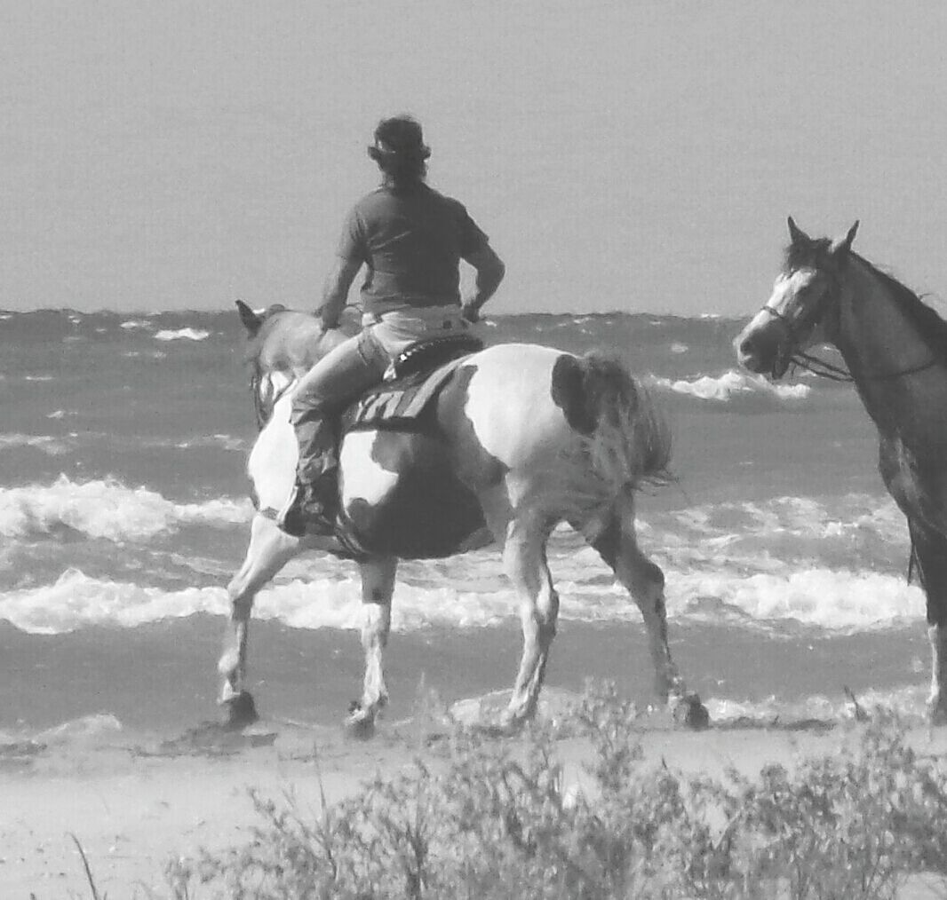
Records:
[[[684,679],[671,659],[668,618],[664,602],[664,573],[638,547],[634,531],[634,500],[616,504],[595,538],[590,540],[631,593],[648,631],[648,647],[654,666],[654,689],[662,703],[669,703],[674,717],[693,728],[707,724],[707,712],[696,694],[688,693]]]

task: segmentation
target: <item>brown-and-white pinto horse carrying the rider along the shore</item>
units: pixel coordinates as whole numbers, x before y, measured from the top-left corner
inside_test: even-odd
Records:
[[[311,315],[238,304],[249,334],[261,430],[248,472],[257,514],[250,545],[227,593],[231,614],[219,664],[228,724],[256,717],[244,687],[254,596],[302,551],[338,550],[332,538],[295,538],[273,511],[294,484],[297,445],[290,423],[296,379],[345,335]],[[339,453],[342,518],[363,553],[366,671],[347,726],[367,736],[384,707],[383,651],[400,558],[442,557],[496,541],[516,592],[523,655],[500,727],[536,709],[559,597],[545,545],[562,521],[581,531],[644,616],[658,696],[679,721],[706,723],[671,660],[664,575],[638,549],[634,492],[666,477],[670,435],[651,399],[618,363],[549,347],[493,346],[456,363],[433,397],[425,428],[348,431]],[[317,598],[316,598],[317,600]]]

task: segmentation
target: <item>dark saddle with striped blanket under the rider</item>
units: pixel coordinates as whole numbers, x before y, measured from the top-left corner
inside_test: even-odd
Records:
[[[384,381],[342,414],[342,432],[423,428],[422,418],[444,383],[465,357],[482,349],[483,342],[467,334],[411,344],[392,362]]]

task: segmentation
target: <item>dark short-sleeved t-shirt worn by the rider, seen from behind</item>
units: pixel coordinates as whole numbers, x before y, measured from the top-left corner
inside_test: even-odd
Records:
[[[462,203],[428,185],[379,187],[348,214],[339,256],[367,264],[366,312],[460,302],[458,262],[487,243]]]

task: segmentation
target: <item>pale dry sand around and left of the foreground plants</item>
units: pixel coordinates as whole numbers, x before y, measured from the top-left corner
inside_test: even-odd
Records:
[[[843,752],[847,733],[812,724],[686,732],[655,714],[642,721],[640,740],[646,765],[716,777],[736,768],[753,777],[770,762],[792,767],[801,758]],[[249,842],[261,823],[251,789],[277,802],[292,795],[314,820],[323,791],[334,803],[419,754],[434,766],[443,762],[445,742],[432,734],[417,721],[385,722],[372,741],[353,743],[340,729],[261,721],[242,735],[211,739],[90,727],[84,740],[74,732],[57,745],[50,732],[44,747],[10,745],[0,762],[0,894],[37,900],[91,895],[75,837],[100,896],[170,896],[169,860]],[[917,728],[910,739],[921,754],[947,750],[944,730]],[[587,784],[589,744],[563,739],[556,751],[566,784]],[[943,896],[943,887],[916,877],[901,896]]]

